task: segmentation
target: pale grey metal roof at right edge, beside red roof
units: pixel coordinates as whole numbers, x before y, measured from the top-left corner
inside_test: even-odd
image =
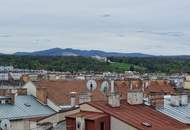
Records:
[[[190,104],[187,106],[173,107],[170,105],[170,99],[165,98],[164,108],[160,108],[158,111],[182,123],[190,124]]]

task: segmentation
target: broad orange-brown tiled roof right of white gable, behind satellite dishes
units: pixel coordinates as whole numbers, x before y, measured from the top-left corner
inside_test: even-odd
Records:
[[[34,82],[37,87],[46,87],[48,98],[58,105],[70,104],[70,92],[87,91],[85,80],[61,80],[61,81],[39,81]],[[106,100],[106,96],[100,91],[101,81],[97,82],[98,87],[92,93],[92,100]],[[78,101],[77,101],[78,103]]]

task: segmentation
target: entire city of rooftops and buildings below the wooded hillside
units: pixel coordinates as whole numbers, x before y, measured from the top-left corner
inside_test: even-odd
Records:
[[[190,128],[190,76],[186,74],[9,70],[1,73],[0,81],[3,130]]]

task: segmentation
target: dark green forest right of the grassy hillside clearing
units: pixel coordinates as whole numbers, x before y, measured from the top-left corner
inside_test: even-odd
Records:
[[[140,72],[149,73],[190,73],[190,57],[146,57],[146,58],[126,58],[111,57],[111,61],[119,63],[130,63],[138,66]],[[133,68],[135,70],[135,67]]]

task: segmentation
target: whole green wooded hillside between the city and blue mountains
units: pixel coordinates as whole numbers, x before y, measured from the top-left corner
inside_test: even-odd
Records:
[[[36,56],[0,56],[0,65],[13,65],[21,69],[45,69],[54,71],[95,71],[124,72],[135,70],[143,72],[190,72],[190,57],[110,57],[103,62],[89,57],[36,57]]]

